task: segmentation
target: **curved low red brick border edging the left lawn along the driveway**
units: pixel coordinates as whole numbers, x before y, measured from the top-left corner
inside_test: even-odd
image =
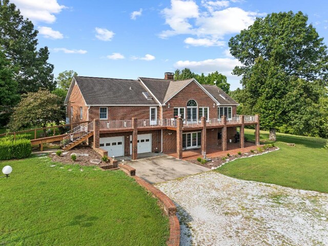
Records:
[[[152,186],[146,180],[135,175],[135,169],[129,165],[119,164],[119,168],[124,171],[127,175],[131,176],[136,180],[136,182],[149,191],[158,201],[162,204],[164,212],[169,217],[170,223],[170,237],[167,241],[168,246],[179,246],[180,244],[180,223],[179,219],[176,216],[176,206],[173,201],[165,195],[163,192]]]

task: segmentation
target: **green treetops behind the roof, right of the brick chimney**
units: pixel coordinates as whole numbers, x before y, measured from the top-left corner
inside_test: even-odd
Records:
[[[194,73],[189,68],[184,68],[181,71],[177,69],[174,72],[174,79],[176,80],[183,80],[189,78],[195,78],[200,84],[216,84],[217,87],[221,88],[227,93],[230,90],[230,84],[227,82],[227,76],[224,76],[218,71],[209,73],[207,76],[205,76],[204,73],[201,73],[200,75]]]

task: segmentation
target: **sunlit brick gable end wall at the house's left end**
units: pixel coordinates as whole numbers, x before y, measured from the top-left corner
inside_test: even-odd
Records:
[[[73,106],[72,123],[88,120],[88,107],[83,99],[80,89],[77,85],[73,86],[72,93],[67,103],[67,117],[71,119],[71,106]],[[83,118],[80,119],[80,107],[83,109]]]

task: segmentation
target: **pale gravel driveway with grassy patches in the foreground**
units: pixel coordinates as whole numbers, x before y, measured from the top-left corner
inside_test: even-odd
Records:
[[[216,172],[155,186],[177,204],[180,245],[328,245],[328,194]]]

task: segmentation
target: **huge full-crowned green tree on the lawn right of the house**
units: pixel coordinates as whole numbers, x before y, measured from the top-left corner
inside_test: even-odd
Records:
[[[261,115],[261,126],[270,139],[280,127],[294,134],[308,134],[315,126],[315,108],[327,81],[328,56],[308,16],[280,12],[257,18],[229,42],[231,54],[242,66],[244,113]]]

